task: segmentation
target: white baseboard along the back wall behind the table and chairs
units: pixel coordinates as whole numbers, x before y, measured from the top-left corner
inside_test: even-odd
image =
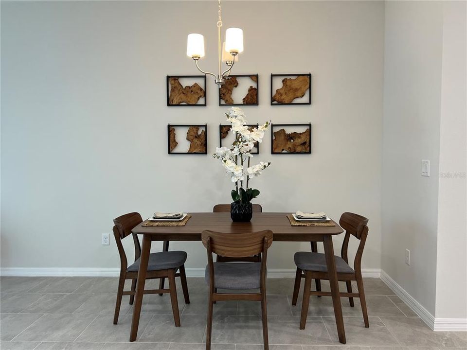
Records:
[[[362,269],[364,278],[379,278],[380,269]],[[119,268],[106,267],[2,267],[1,276],[48,276],[48,277],[114,277],[120,273]],[[204,277],[204,268],[187,268],[188,277]],[[295,278],[295,269],[268,269],[268,277],[271,278]]]

